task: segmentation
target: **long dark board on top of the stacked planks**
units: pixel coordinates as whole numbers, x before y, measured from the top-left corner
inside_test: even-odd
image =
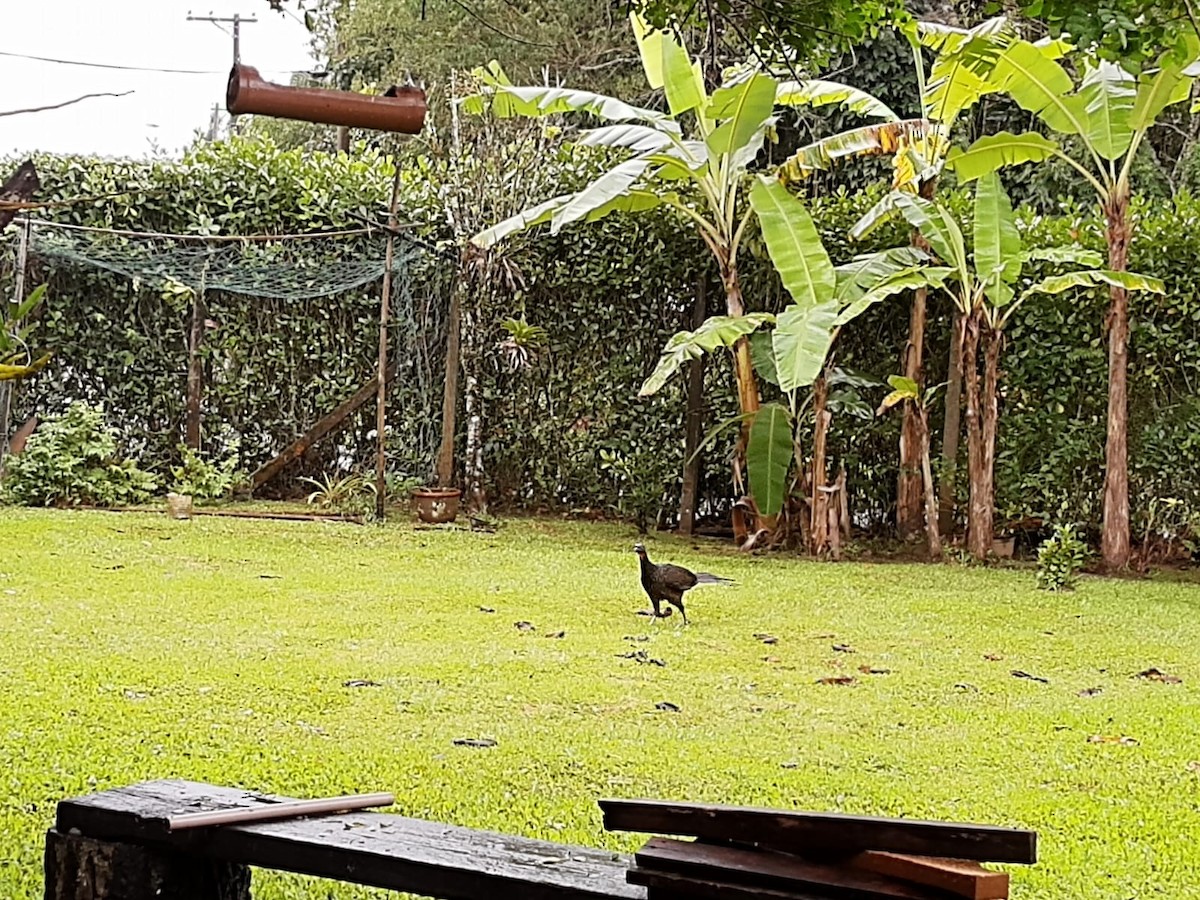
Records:
[[[995,826],[788,812],[665,800],[600,800],[613,832],[678,834],[794,852],[880,850],[991,863],[1036,863],[1037,833]]]

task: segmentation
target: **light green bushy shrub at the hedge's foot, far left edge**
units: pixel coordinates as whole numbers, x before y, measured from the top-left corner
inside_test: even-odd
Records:
[[[115,506],[149,499],[157,479],[118,455],[116,431],[98,406],[72,403],[8,461],[4,498],[25,506]]]

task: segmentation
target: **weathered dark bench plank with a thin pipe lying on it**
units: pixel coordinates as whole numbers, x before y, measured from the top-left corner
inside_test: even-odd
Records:
[[[167,832],[170,816],[288,799],[191,781],[148,781],[64,800],[56,828],[450,900],[646,900],[646,888],[625,881],[629,858],[619,853],[403,816],[352,812]]]

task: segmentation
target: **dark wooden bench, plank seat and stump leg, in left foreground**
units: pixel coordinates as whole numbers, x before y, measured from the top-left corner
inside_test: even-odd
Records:
[[[443,900],[646,900],[630,858],[379,812],[169,832],[188,812],[264,797],[146,781],[59,803],[46,838],[46,900],[248,900],[250,866]]]

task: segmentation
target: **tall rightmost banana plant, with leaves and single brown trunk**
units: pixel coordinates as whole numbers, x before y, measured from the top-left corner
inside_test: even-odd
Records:
[[[1006,166],[1049,160],[1066,163],[1096,191],[1106,224],[1108,268],[1124,271],[1133,238],[1129,200],[1134,160],[1163,110],[1188,98],[1200,74],[1195,44],[1183,58],[1166,54],[1156,70],[1136,77],[1117,62],[1085,60],[1078,86],[1066,68],[1027,41],[1013,42],[995,58],[965,53],[949,56],[989,90],[1012,97],[1050,132],[1069,138],[1082,149],[1084,157],[1080,161],[1068,154],[1058,138],[1004,131],[949,154],[947,163],[959,180],[973,181]],[[1121,569],[1129,562],[1129,300],[1124,284],[1110,287],[1106,323],[1109,397],[1102,551],[1105,565]]]

